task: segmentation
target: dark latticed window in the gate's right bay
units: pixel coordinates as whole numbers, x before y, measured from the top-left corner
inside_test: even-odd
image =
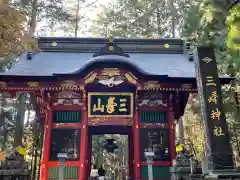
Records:
[[[141,159],[145,161],[144,152],[154,152],[154,161],[170,161],[168,129],[141,128]]]

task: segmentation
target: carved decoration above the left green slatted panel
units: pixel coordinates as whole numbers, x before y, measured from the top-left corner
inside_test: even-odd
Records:
[[[57,94],[56,102],[53,102],[53,106],[58,106],[58,105],[65,105],[65,106],[70,106],[70,105],[78,105],[81,106],[82,103],[80,102],[81,95],[80,93],[76,93],[74,91],[66,90],[63,92],[60,92]]]

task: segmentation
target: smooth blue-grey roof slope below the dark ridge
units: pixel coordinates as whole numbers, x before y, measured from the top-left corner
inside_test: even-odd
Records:
[[[124,59],[135,65],[144,74],[168,75],[169,77],[195,77],[194,62],[183,54],[128,53],[130,58],[107,55],[92,58],[93,53],[39,52],[31,60],[26,54],[19,58],[5,75],[49,76],[73,73],[92,61],[99,59]]]

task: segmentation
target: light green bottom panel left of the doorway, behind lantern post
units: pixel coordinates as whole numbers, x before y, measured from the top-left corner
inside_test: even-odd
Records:
[[[59,167],[48,167],[48,179],[58,179]],[[78,167],[77,166],[65,166],[64,168],[65,179],[78,179]]]

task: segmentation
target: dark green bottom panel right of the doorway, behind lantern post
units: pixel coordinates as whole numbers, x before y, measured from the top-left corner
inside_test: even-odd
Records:
[[[142,167],[142,179],[148,179],[147,166]],[[154,179],[168,179],[170,178],[169,167],[153,166],[153,178]]]

